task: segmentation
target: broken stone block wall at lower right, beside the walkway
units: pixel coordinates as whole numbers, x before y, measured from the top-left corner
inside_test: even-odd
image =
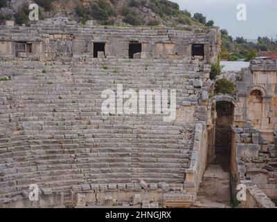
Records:
[[[234,128],[235,167],[232,171],[233,196],[239,184],[247,185],[247,200],[242,207],[274,207],[276,200],[276,168],[270,166],[270,157],[262,153],[270,149],[256,128]],[[251,180],[251,181],[249,181]]]

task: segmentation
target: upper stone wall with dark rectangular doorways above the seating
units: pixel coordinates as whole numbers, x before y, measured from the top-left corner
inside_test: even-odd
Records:
[[[93,56],[93,42],[104,42],[106,58],[128,58],[129,42],[142,45],[140,58],[192,60],[192,44],[204,44],[206,62],[220,50],[219,29],[179,31],[164,27],[78,26],[67,19],[47,19],[26,26],[0,26],[0,56],[15,57],[15,42],[32,44],[28,57]]]

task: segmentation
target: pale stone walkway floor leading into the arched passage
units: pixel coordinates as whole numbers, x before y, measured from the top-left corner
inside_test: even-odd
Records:
[[[209,165],[199,188],[196,207],[230,208],[230,175],[220,165]]]

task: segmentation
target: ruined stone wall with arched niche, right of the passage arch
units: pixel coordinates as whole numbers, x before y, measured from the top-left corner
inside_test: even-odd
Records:
[[[276,73],[276,61],[252,60],[249,69],[242,69],[236,84],[236,102],[242,110],[238,124],[251,121],[269,142],[273,142],[277,127]]]

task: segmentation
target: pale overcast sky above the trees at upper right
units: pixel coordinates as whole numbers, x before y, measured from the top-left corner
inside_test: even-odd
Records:
[[[276,38],[277,0],[171,0],[179,3],[180,9],[192,14],[203,13],[213,19],[216,26],[226,28],[233,37],[256,39],[258,36]],[[238,21],[237,5],[247,6],[247,21]]]

